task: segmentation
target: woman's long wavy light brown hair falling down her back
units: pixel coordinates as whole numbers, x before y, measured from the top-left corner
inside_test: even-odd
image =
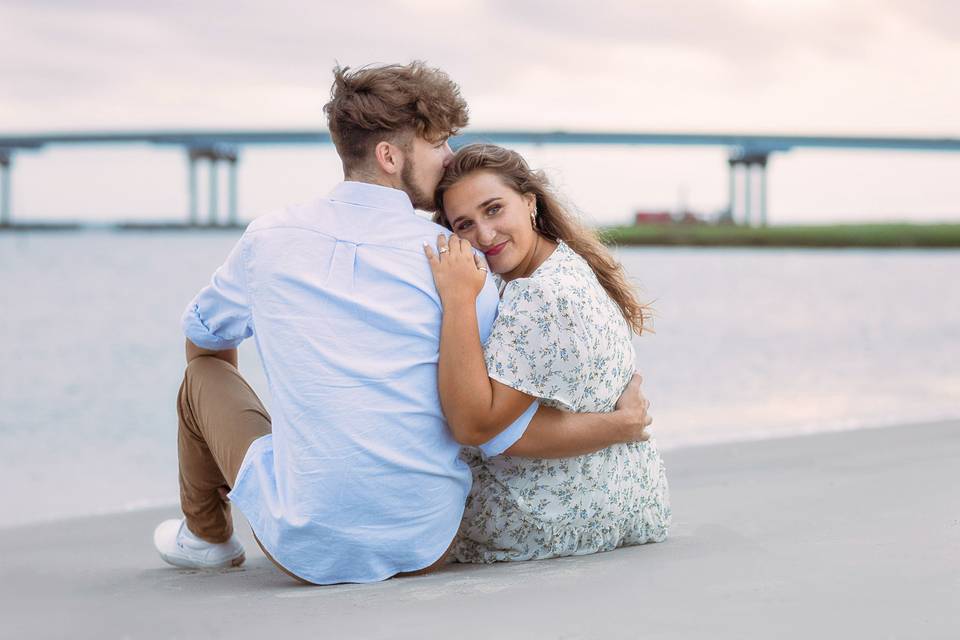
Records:
[[[451,228],[443,212],[443,195],[457,181],[475,171],[490,171],[517,193],[533,194],[537,201],[534,227],[537,233],[554,242],[563,240],[567,243],[593,269],[630,328],[638,335],[647,329],[650,307],[637,299],[623,267],[613,259],[596,232],[585,227],[561,204],[544,173],[531,170],[516,151],[493,144],[471,144],[457,151],[437,185],[435,222]]]

